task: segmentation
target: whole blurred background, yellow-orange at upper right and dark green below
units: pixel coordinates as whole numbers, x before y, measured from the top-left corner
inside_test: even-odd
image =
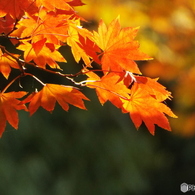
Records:
[[[88,29],[118,15],[123,27],[140,26],[141,50],[154,58],[140,69],[172,92],[167,104],[179,118],[170,119],[172,132],[157,128],[152,136],[85,89],[88,111],[57,105],[52,114],[20,112],[19,130],[8,125],[0,140],[0,194],[180,194],[181,183],[195,185],[195,1],[83,2],[77,11]],[[72,64],[67,71],[77,72],[65,55]]]

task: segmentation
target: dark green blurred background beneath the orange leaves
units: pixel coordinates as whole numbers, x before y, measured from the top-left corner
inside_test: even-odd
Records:
[[[63,52],[72,64],[65,71],[77,72]],[[195,184],[194,136],[160,128],[152,136],[145,126],[137,131],[127,114],[110,103],[102,107],[93,90],[83,92],[91,99],[87,111],[58,105],[52,114],[20,111],[18,131],[7,125],[0,140],[1,195],[182,194],[181,183]]]

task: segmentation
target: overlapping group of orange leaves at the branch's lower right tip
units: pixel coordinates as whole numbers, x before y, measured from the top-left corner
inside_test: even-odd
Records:
[[[121,74],[110,73],[102,78],[94,73],[88,76],[87,86],[96,89],[100,103],[110,101],[123,113],[129,113],[137,129],[144,122],[153,135],[155,125],[171,130],[165,114],[174,118],[176,115],[163,103],[164,100],[171,98],[171,95],[155,79],[135,76],[133,79],[130,78],[128,83],[127,78]],[[127,83],[132,84],[131,89]]]

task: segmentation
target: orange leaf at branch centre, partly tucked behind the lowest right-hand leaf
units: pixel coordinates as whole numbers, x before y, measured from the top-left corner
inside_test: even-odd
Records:
[[[116,107],[121,108],[121,99],[129,99],[130,90],[124,85],[120,75],[109,73],[100,78],[93,72],[87,73],[87,87],[95,88],[101,104],[106,101],[112,102]]]

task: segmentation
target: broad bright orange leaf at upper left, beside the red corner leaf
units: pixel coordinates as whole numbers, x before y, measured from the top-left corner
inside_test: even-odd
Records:
[[[16,30],[10,35],[20,38],[28,38],[32,42],[37,42],[44,38],[47,42],[60,45],[65,42],[67,35],[67,20],[69,15],[56,14],[47,12],[44,8],[39,11],[38,15],[29,15],[20,20],[16,25]]]

